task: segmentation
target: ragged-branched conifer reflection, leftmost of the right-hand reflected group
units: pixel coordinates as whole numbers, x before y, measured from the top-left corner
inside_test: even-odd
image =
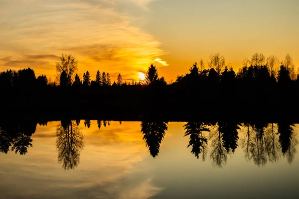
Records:
[[[191,153],[198,159],[199,155],[202,153],[202,160],[205,160],[207,154],[207,138],[203,135],[203,132],[210,132],[208,125],[203,122],[187,122],[184,129],[186,132],[184,133],[184,137],[189,135],[189,146],[192,146]]]

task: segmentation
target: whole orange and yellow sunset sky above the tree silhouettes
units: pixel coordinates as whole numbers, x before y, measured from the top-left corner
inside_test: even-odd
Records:
[[[62,53],[78,75],[140,80],[153,63],[175,81],[220,53],[236,71],[254,53],[299,66],[298,0],[0,0],[0,71],[32,68],[54,80]]]

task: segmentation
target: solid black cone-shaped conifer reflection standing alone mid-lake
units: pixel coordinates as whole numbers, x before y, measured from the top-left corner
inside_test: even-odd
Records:
[[[150,155],[154,158],[158,155],[160,144],[164,138],[165,131],[168,129],[168,122],[154,122],[154,121],[142,121],[141,132],[146,141],[146,146],[149,148]]]

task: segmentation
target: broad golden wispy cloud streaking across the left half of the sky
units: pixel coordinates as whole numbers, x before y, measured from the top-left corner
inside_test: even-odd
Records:
[[[165,52],[116,6],[133,3],[143,9],[151,1],[4,0],[0,6],[0,59],[13,60],[2,59],[0,70],[27,64],[36,74],[54,76],[57,56],[70,53],[78,59],[79,74],[89,70],[93,78],[100,70],[138,79],[138,72],[145,72]]]

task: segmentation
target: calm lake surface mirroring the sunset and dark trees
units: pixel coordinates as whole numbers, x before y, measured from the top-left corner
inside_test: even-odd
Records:
[[[297,124],[185,124],[2,127],[0,198],[299,198]]]

